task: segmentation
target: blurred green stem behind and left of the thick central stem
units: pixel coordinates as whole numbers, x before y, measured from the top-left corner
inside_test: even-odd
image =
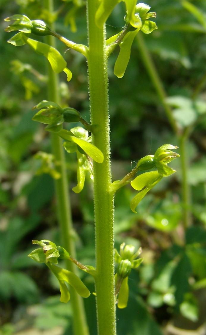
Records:
[[[53,12],[53,0],[45,0],[45,7],[49,12]],[[52,28],[54,28],[52,26]],[[47,43],[55,48],[55,38],[47,36]],[[58,89],[58,75],[54,73],[50,64],[48,67],[48,100],[60,103],[59,89]],[[55,180],[55,191],[57,198],[57,212],[61,231],[61,238],[63,247],[68,250],[72,257],[76,258],[75,242],[73,225],[71,218],[71,208],[69,199],[69,185],[66,174],[65,155],[62,147],[62,139],[56,135],[51,134],[52,153],[55,160],[59,163],[57,166],[61,178]],[[78,275],[78,269],[72,262],[67,262],[67,268]],[[70,287],[71,304],[73,311],[73,332],[74,335],[88,335],[88,327],[84,311],[83,299],[77,292]]]

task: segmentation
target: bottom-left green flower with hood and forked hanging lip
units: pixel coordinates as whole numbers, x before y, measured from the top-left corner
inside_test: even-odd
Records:
[[[45,263],[56,276],[60,285],[61,302],[67,303],[70,299],[70,293],[65,282],[73,286],[77,293],[82,297],[87,298],[90,295],[87,287],[73,272],[53,265],[53,263],[58,264],[58,258],[70,259],[69,253],[64,248],[56,246],[55,243],[49,240],[34,240],[32,241],[32,244],[38,244],[41,248],[33,250],[28,257],[38,263]]]

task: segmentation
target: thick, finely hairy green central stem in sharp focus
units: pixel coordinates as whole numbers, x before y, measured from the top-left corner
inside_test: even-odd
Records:
[[[96,307],[99,335],[115,335],[114,284],[114,197],[110,193],[110,123],[105,27],[95,24],[98,0],[87,0],[89,35],[88,74],[90,114],[98,131],[93,144],[104,154],[104,162],[94,162],[94,215],[96,247]]]

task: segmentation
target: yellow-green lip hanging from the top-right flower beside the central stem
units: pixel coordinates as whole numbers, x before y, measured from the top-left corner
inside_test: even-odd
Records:
[[[114,74],[118,78],[122,78],[124,76],[130,59],[131,46],[138,31],[139,29],[129,31],[123,41],[120,43],[120,53],[117,57],[114,68]]]

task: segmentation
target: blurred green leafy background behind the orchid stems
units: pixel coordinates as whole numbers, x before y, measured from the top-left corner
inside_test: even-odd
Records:
[[[122,242],[142,246],[144,258],[129,277],[127,308],[117,311],[118,334],[204,335],[206,2],[148,4],[157,13],[158,29],[135,39],[122,79],[113,73],[118,48],[109,60],[113,180],[165,143],[180,146],[181,158],[171,164],[177,173],[142,200],[137,214],[129,205],[134,190],[117,192],[115,247]],[[84,2],[58,0],[55,9],[56,31],[86,44]],[[14,34],[4,32],[3,18],[15,13],[31,19],[48,15],[40,0],[0,0],[0,334],[67,335],[72,334],[70,303],[59,302],[58,283],[45,266],[27,257],[32,239],[61,242],[52,172],[39,173],[42,162],[34,157],[38,151],[50,152],[50,136],[31,120],[32,107],[47,97],[47,60],[28,46],[6,43]],[[108,37],[121,30],[124,15],[119,4],[107,21]],[[76,108],[89,121],[85,59],[59,42],[57,46],[73,73],[69,83],[60,74],[62,105]],[[76,185],[76,157],[67,154],[66,159],[71,189]],[[70,196],[77,258],[94,265],[91,182]],[[91,278],[80,275],[93,292]],[[94,295],[84,302],[90,334],[95,335]]]

